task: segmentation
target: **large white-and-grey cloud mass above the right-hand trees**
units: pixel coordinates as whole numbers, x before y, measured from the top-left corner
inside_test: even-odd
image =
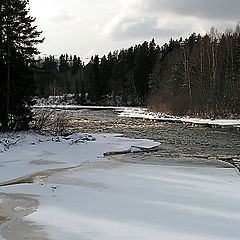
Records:
[[[185,37],[211,26],[224,31],[239,20],[239,9],[239,0],[126,0],[105,33],[121,41]]]

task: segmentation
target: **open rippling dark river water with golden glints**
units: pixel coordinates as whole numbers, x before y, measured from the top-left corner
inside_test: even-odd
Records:
[[[113,110],[61,111],[74,132],[120,133],[129,138],[161,143],[158,151],[121,156],[128,162],[150,164],[220,164],[216,159],[239,164],[240,132],[236,129],[203,128],[182,123],[119,117]],[[220,164],[221,165],[221,164]]]

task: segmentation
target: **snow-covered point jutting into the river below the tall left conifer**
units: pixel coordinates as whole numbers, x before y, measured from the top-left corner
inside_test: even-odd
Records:
[[[10,181],[14,178],[26,176],[37,171],[74,167],[85,161],[97,161],[103,158],[103,153],[110,151],[123,151],[137,145],[139,147],[151,147],[158,145],[151,140],[130,140],[117,135],[73,134],[71,137],[41,136],[35,133],[19,133],[15,138],[11,135],[0,138],[2,153],[0,154],[0,182]],[[120,136],[120,135],[119,135]],[[5,142],[16,142],[5,149]],[[96,141],[94,141],[96,139]],[[33,165],[32,161],[52,161],[61,164]],[[62,165],[64,163],[64,166]],[[21,169],[21,171],[19,171]],[[5,171],[6,170],[6,171]]]

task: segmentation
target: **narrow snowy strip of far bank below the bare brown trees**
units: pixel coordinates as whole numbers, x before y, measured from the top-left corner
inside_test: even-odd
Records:
[[[120,117],[133,117],[141,119],[156,120],[162,122],[190,123],[202,126],[240,128],[240,119],[200,119],[189,117],[175,117],[162,113],[149,112],[146,108],[124,108],[119,111]]]

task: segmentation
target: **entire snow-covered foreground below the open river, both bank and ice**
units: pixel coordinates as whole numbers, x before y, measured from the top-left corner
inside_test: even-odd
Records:
[[[12,216],[0,225],[6,239],[239,239],[240,176],[234,168],[110,161],[103,157],[104,152],[158,145],[110,134],[75,134],[64,139],[21,133],[9,149],[3,144],[6,138],[1,137],[0,209],[8,195],[37,199],[39,207],[23,220],[48,233],[48,238],[21,237],[21,231],[28,231],[21,227],[14,238],[13,226],[20,220]],[[15,142],[17,136],[8,138]],[[77,169],[44,175],[45,170],[81,163]],[[24,183],[38,172],[42,173],[34,175],[34,183]],[[15,183],[21,184],[14,184],[14,178],[20,178]],[[1,184],[7,181],[12,185]],[[27,208],[20,201],[17,204],[15,211]]]

